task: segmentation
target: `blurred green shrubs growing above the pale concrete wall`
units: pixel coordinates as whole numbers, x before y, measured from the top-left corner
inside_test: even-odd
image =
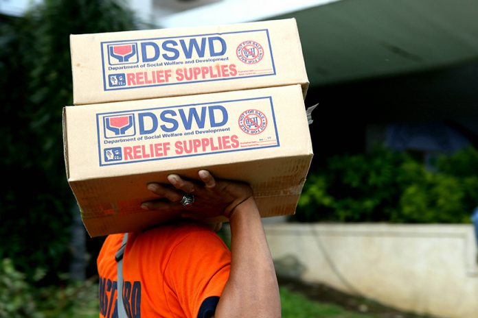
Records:
[[[434,171],[377,147],[311,173],[293,221],[466,223],[478,205],[478,151],[439,156]]]

